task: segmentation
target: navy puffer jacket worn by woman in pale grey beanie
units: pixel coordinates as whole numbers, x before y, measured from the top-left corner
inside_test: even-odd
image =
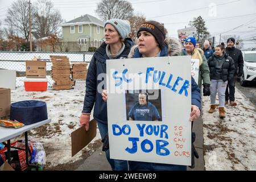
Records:
[[[106,89],[106,75],[100,76],[101,73],[106,73],[106,60],[109,57],[106,55],[106,43],[102,43],[99,48],[96,49],[92,60],[90,61],[89,69],[86,77],[86,92],[84,97],[84,107],[82,113],[90,113],[94,106],[93,117],[99,122],[108,123],[107,105],[102,100],[101,93],[97,92],[98,85],[102,85],[102,89]],[[131,47],[134,46],[133,41],[130,38],[125,39],[125,50],[118,57],[127,57]],[[104,81],[104,84],[102,84]]]

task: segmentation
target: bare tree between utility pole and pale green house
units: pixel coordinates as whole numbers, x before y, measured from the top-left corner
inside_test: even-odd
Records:
[[[34,32],[39,38],[59,34],[59,26],[63,20],[59,10],[53,8],[51,1],[38,0],[33,9]]]

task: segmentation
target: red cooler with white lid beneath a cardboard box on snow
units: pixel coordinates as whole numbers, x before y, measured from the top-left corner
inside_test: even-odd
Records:
[[[46,91],[47,78],[24,78],[26,91]]]

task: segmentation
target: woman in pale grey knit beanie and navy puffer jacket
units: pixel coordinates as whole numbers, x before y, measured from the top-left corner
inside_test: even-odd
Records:
[[[108,115],[106,102],[102,100],[101,93],[106,89],[106,60],[121,59],[127,57],[134,45],[130,38],[126,38],[130,32],[130,23],[121,19],[110,19],[105,23],[105,42],[96,49],[90,61],[87,78],[84,107],[80,116],[80,125],[89,130],[90,113],[94,106],[93,117],[97,121],[101,138],[108,134]],[[102,84],[102,81],[104,84]],[[95,105],[94,105],[95,104]],[[106,158],[113,170],[127,170],[126,160],[113,160],[109,158],[109,150],[106,150]]]

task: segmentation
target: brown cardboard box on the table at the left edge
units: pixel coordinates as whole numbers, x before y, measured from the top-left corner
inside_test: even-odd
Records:
[[[0,117],[10,115],[11,89],[0,88]]]

